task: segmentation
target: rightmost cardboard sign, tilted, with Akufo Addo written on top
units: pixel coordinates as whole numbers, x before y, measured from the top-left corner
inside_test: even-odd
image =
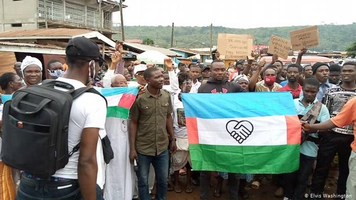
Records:
[[[319,45],[319,33],[317,26],[293,30],[289,33],[293,51],[302,50],[303,48],[308,49]]]

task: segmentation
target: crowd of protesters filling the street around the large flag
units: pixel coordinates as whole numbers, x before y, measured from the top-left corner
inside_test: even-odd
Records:
[[[306,53],[303,49],[287,66],[278,60],[278,55],[273,55],[271,63],[265,63],[262,57],[259,62],[236,60],[225,66],[217,56],[209,65],[181,62],[174,68],[172,60],[166,58],[163,67],[138,60],[125,66],[122,44],[117,42],[117,51],[106,65],[95,43],[74,38],[66,47],[66,63],[58,60],[47,63],[47,78],[69,83],[75,89],[139,88],[129,120],[122,120],[115,126],[116,134],[108,135],[114,159],[105,166],[97,153],[100,132],[110,128],[105,125],[105,102],[99,95],[84,93],[73,101],[68,134],[68,151],[80,141],[79,151],[69,158],[65,168],[46,180],[0,162],[3,199],[14,199],[16,195],[18,200],[161,200],[166,199],[167,191],[181,193],[184,188],[191,193],[196,189],[193,185],[199,186],[200,199],[209,199],[212,172],[192,170],[181,94],[275,91],[291,93],[302,121],[299,170],[278,175],[213,172],[218,178],[213,195],[221,196],[223,181],[227,180],[229,199],[238,199],[239,195],[247,199],[247,185],[259,189],[263,179],[273,177],[278,185],[274,193],[281,199],[306,196],[321,199],[337,154],[339,176],[335,198],[356,198],[356,98],[352,98],[356,95],[356,62],[345,62],[342,66],[323,62],[301,66]],[[42,82],[43,65],[35,57],[26,56],[22,62],[16,62],[14,70],[16,73],[0,77],[3,104],[15,91]],[[98,178],[99,174],[106,174],[106,178]],[[184,187],[179,182],[180,174],[187,175]]]

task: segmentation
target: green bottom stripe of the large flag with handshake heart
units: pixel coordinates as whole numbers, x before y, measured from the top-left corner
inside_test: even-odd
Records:
[[[299,169],[300,145],[189,145],[193,169],[248,174],[281,174]]]

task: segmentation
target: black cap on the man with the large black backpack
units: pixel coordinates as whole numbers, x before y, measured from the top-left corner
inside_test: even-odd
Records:
[[[66,55],[105,61],[100,56],[100,50],[97,43],[85,37],[77,37],[70,40],[66,47]]]

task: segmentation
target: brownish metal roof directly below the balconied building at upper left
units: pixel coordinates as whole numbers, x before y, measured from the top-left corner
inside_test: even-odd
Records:
[[[36,30],[12,30],[0,32],[0,38],[16,38],[16,37],[73,37],[81,34],[86,34],[94,30],[88,29],[71,29],[71,28],[41,28]]]

